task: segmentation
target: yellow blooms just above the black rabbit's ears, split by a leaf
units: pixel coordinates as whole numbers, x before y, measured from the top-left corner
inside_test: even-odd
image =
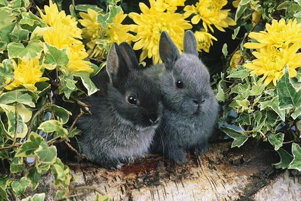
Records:
[[[87,13],[80,12],[79,15],[82,20],[78,21],[84,27],[82,32],[88,47],[87,52],[90,54],[93,51],[91,53],[92,57],[97,57],[103,52],[103,48],[95,42],[97,39],[105,39],[108,42],[108,45],[113,42],[119,44],[122,41],[130,42],[133,40],[133,35],[128,33],[130,26],[121,24],[127,16],[126,14],[123,14],[123,12],[114,16],[113,24],[108,24],[106,29],[97,23],[98,13],[96,11],[88,9]]]

